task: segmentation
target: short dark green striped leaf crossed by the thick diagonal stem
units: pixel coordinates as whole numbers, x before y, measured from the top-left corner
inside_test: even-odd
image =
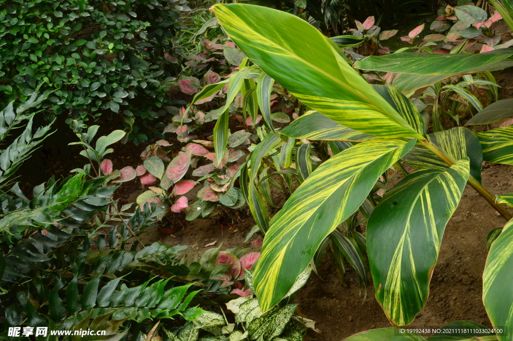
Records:
[[[428,134],[427,139],[455,160],[468,157],[470,159],[470,175],[481,183],[483,152],[479,139],[470,130],[455,127]],[[403,159],[417,169],[448,168],[447,164],[438,156],[420,146],[413,147]]]

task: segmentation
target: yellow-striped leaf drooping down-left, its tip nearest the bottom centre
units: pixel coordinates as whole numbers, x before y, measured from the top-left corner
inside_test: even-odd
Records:
[[[315,169],[292,193],[272,218],[255,267],[254,287],[262,311],[280,302],[324,238],[360,207],[381,174],[415,142],[374,139],[346,149]]]

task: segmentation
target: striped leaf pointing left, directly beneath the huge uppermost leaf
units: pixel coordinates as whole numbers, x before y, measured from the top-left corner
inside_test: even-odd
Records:
[[[376,136],[347,128],[318,111],[310,110],[280,131],[280,134],[311,140],[367,141]]]

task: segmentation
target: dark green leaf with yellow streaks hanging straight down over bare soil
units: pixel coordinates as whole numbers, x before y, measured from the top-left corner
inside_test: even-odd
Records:
[[[445,225],[468,175],[468,158],[445,171],[411,173],[369,217],[367,252],[376,298],[395,326],[410,324],[426,304]]]

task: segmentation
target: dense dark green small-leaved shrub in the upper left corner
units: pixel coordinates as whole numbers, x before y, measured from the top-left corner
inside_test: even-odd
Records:
[[[87,121],[105,110],[125,109],[127,116],[159,117],[151,109],[162,107],[174,74],[164,58],[169,38],[179,29],[179,12],[190,10],[182,2],[4,2],[0,102],[28,96],[44,84],[56,90],[43,103],[53,114]],[[136,105],[130,103],[133,98]],[[127,122],[133,124],[131,118]]]

